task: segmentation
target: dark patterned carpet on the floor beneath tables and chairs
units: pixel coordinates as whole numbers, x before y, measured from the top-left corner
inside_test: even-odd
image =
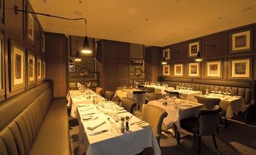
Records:
[[[69,134],[73,155],[83,155],[85,146],[77,142],[78,123],[75,119],[69,119]],[[227,129],[220,127],[220,133],[216,135],[218,149],[214,148],[211,136],[202,136],[202,154],[256,154],[256,126],[243,123],[231,122]],[[176,141],[169,134],[168,137],[162,135],[160,141],[162,155],[171,154],[197,154],[197,138],[186,136]],[[143,151],[144,155],[153,154],[151,148]]]

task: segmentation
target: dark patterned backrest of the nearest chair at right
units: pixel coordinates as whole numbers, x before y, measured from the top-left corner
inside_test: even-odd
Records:
[[[202,109],[199,112],[199,134],[213,135],[217,132],[218,114],[221,108],[215,105],[213,109]]]

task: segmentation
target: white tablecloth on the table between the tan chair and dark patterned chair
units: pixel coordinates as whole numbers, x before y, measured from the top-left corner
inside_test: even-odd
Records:
[[[183,101],[183,102],[181,102]],[[175,105],[176,103],[176,105]],[[195,117],[199,114],[199,109],[203,108],[202,104],[196,102],[188,102],[182,99],[176,99],[175,102],[171,102],[168,99],[168,105],[162,105],[162,99],[154,100],[148,102],[149,105],[155,105],[159,108],[165,109],[168,113],[168,116],[163,120],[164,128],[168,129],[171,126],[177,126],[177,129],[180,129],[180,120],[183,120],[188,117]]]

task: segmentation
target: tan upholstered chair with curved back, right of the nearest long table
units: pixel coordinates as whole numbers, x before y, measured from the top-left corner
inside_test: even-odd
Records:
[[[158,143],[162,133],[162,121],[167,115],[164,109],[156,107],[155,105],[143,105],[142,107],[142,120],[150,123]]]

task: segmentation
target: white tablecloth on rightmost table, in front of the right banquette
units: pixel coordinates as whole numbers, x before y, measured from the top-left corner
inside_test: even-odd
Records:
[[[218,98],[221,99],[220,107],[222,110],[227,111],[226,117],[231,118],[234,114],[238,114],[239,111],[245,111],[245,102],[239,96],[227,96],[226,98],[223,95],[217,94],[209,94],[208,96],[202,95],[207,98]]]

